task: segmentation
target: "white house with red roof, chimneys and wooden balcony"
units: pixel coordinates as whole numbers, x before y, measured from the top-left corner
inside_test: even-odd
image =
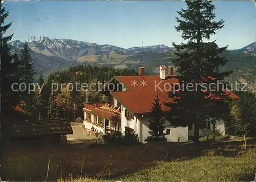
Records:
[[[91,129],[92,126],[102,133],[110,129],[121,132],[131,131],[139,135],[140,142],[150,136],[148,133],[148,120],[151,115],[152,102],[156,94],[161,102],[171,102],[165,91],[170,84],[178,83],[174,75],[174,67],[169,66],[165,75],[165,66],[160,66],[160,75],[144,75],[144,67],[140,67],[139,76],[115,76],[100,94],[110,98],[109,103],[87,103],[84,104],[84,127]],[[238,99],[235,94],[226,91],[229,97]],[[163,110],[169,108],[164,104]],[[205,127],[212,127],[207,126]],[[216,127],[225,134],[224,121],[217,121]],[[189,136],[193,136],[194,126],[173,127],[166,121],[165,137],[167,142],[186,142]],[[200,130],[203,135],[203,129]]]

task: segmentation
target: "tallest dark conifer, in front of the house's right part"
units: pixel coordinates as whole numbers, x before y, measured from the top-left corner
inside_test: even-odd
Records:
[[[180,45],[173,43],[178,59],[174,65],[178,68],[177,78],[185,89],[179,92],[170,92],[172,103],[166,104],[171,107],[168,120],[173,126],[188,126],[194,124],[194,143],[199,143],[199,129],[203,128],[206,121],[211,118],[211,110],[215,110],[212,99],[221,97],[224,99],[223,90],[216,91],[210,83],[217,85],[217,80],[224,83],[224,78],[231,71],[220,72],[220,66],[225,65],[227,59],[220,54],[227,47],[219,48],[215,41],[206,42],[217,30],[224,27],[224,20],[215,21],[215,6],[210,1],[185,1],[187,9],[178,12],[180,18],[176,17],[177,32],[182,32],[182,38],[187,43]],[[202,83],[205,83],[202,87]],[[193,87],[191,87],[193,84]],[[187,86],[189,89],[186,89]],[[176,87],[177,88],[177,87]],[[176,89],[175,88],[175,89]],[[206,114],[207,113],[207,114]]]

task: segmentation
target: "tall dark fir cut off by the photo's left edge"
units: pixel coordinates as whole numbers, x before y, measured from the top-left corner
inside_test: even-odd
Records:
[[[2,110],[5,108],[13,108],[19,103],[18,92],[13,89],[17,89],[18,83],[17,70],[17,56],[10,54],[10,48],[7,44],[11,40],[13,34],[4,37],[5,32],[10,28],[11,22],[5,25],[5,19],[8,17],[9,11],[6,12],[5,7],[1,3],[1,106]],[[3,112],[5,113],[5,112]]]

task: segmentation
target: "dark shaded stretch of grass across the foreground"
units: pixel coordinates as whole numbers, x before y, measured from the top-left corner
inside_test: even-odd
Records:
[[[90,141],[83,140],[85,143]],[[246,143],[248,146],[254,145],[255,140],[250,139]],[[241,145],[243,145],[242,141],[227,139],[216,143],[204,141],[199,145],[193,143],[94,147],[86,144],[36,147],[10,145],[2,150],[1,174],[2,180],[11,181],[55,181],[58,178],[78,176],[97,180],[116,179],[141,169],[154,167],[155,161],[191,160],[202,155],[236,157],[244,150]]]

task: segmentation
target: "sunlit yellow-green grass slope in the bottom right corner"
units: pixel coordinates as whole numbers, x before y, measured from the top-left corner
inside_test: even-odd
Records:
[[[123,177],[122,181],[252,181],[255,150],[239,157],[202,156],[182,162],[157,162],[150,169]]]

